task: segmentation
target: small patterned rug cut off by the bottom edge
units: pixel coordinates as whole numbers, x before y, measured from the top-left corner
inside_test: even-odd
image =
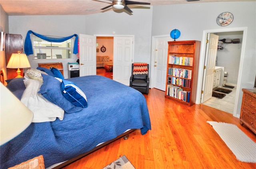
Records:
[[[126,158],[125,155],[110,163],[103,169],[135,169],[132,163]]]

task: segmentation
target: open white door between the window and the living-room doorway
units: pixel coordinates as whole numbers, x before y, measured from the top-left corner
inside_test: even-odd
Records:
[[[80,76],[96,75],[96,37],[79,34]]]

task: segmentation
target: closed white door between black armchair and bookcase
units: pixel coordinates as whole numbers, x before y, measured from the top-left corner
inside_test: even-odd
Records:
[[[156,38],[156,47],[154,49],[154,88],[165,91],[166,69],[168,56],[168,41],[170,37]]]

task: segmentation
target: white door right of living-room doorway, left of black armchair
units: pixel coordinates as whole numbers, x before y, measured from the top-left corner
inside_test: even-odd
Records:
[[[133,37],[114,37],[113,80],[130,85]]]

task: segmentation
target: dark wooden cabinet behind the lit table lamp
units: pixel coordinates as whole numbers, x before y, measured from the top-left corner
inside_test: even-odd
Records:
[[[6,57],[6,66],[12,56],[12,53],[18,53],[20,51],[23,53],[23,39],[22,35],[17,34],[5,34],[5,57]],[[17,69],[6,68],[7,79],[12,79],[17,76]],[[21,75],[23,76],[23,69],[20,69]]]

